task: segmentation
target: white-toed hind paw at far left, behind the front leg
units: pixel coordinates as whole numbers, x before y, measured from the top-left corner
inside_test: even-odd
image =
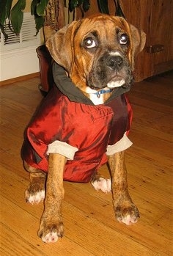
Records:
[[[45,190],[40,191],[30,191],[26,189],[25,191],[26,202],[30,202],[32,205],[38,204],[40,201],[45,199]]]

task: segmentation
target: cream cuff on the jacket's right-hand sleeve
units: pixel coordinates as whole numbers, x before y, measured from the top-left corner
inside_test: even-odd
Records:
[[[125,133],[122,139],[120,139],[117,143],[115,143],[114,145],[108,145],[106,155],[111,156],[114,155],[114,153],[127,150],[127,148],[130,147],[132,144],[133,143],[130,141],[130,139],[128,139],[128,136]]]

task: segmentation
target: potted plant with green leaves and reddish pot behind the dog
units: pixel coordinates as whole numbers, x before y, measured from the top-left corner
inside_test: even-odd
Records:
[[[4,24],[8,20],[9,28],[20,34],[21,26],[23,23],[23,10],[26,8],[26,0],[15,1],[1,0],[0,1],[0,29],[7,40],[7,34],[4,30]],[[93,4],[93,0],[91,0]],[[97,10],[109,14],[108,0],[95,0],[97,3]],[[124,17],[122,8],[120,7],[119,0],[114,0],[115,15]],[[48,37],[54,34],[57,30],[65,26],[65,8],[68,12],[73,12],[73,19],[77,16],[84,17],[85,12],[89,10],[89,0],[32,0],[31,1],[31,14],[34,15],[36,34],[43,29],[43,37],[46,41]],[[79,12],[81,15],[79,15]],[[69,22],[69,19],[67,23]],[[48,53],[45,45],[41,45],[36,49],[40,63],[40,90],[48,92],[50,85],[54,84],[51,74],[51,56]]]

